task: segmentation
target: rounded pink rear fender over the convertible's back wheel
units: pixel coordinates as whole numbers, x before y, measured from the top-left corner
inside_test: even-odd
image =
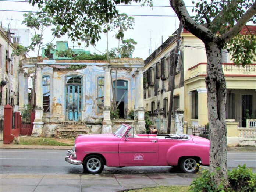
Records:
[[[179,143],[174,145],[166,153],[168,165],[177,166],[179,159],[183,156],[199,157],[203,165],[209,165],[209,146],[195,143]]]

